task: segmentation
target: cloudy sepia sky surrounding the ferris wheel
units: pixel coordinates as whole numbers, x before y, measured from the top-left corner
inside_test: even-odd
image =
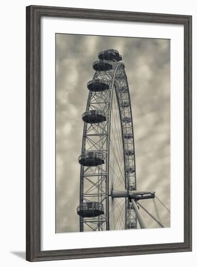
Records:
[[[122,55],[131,95],[138,190],[170,208],[170,40],[56,34],[56,233],[79,232],[82,113],[101,50]],[[155,216],[152,200],[140,203]],[[170,215],[156,200],[164,226]],[[143,211],[148,228],[157,227]]]

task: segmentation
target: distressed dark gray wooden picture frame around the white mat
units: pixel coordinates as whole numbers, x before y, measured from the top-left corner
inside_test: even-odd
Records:
[[[40,249],[40,18],[70,17],[184,26],[184,242]],[[50,261],[192,250],[192,16],[50,6],[26,8],[26,259]]]

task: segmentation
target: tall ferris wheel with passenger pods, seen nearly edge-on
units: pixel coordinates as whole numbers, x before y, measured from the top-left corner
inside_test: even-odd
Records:
[[[138,200],[155,192],[137,191],[131,99],[125,66],[117,50],[99,52],[87,83],[79,156],[80,231],[146,228]],[[159,223],[159,221],[158,221]]]

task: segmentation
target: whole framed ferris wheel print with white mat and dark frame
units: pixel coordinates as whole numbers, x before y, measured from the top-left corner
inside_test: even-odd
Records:
[[[192,17],[27,7],[28,261],[192,250]]]

